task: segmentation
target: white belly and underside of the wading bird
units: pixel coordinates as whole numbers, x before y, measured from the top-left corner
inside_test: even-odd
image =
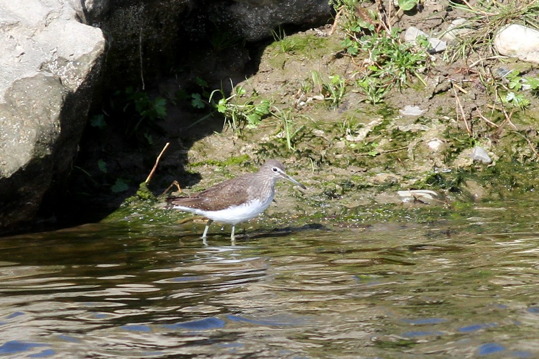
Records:
[[[185,212],[191,212],[209,218],[215,222],[228,223],[228,224],[237,224],[252,220],[254,217],[258,216],[260,213],[264,212],[266,208],[273,201],[273,194],[269,196],[265,201],[260,201],[258,199],[250,200],[246,203],[243,203],[239,206],[233,206],[221,210],[202,210],[198,208],[191,208],[185,206],[175,205],[174,209],[183,210]]]

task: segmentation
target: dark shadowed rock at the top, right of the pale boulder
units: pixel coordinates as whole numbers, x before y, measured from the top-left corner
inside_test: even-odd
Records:
[[[110,46],[105,87],[142,87],[160,77],[220,80],[245,67],[244,41],[272,37],[278,26],[309,27],[331,20],[328,0],[94,0],[85,22],[99,26]],[[197,70],[204,67],[202,71]],[[195,72],[190,74],[190,72]],[[240,76],[243,80],[245,75]],[[110,87],[109,86],[109,87]]]

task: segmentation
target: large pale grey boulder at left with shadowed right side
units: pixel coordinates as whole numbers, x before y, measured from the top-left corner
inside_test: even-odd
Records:
[[[77,153],[105,39],[74,4],[0,3],[0,228],[54,199]]]

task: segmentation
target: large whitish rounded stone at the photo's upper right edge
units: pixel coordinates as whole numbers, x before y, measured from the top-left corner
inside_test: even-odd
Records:
[[[494,47],[502,55],[539,64],[539,31],[519,24],[502,27],[494,37]]]

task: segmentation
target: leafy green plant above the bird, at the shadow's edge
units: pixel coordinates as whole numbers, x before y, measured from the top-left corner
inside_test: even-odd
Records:
[[[215,94],[221,95],[217,103],[213,100]],[[271,100],[259,100],[256,91],[246,96],[247,91],[242,86],[233,88],[230,96],[225,97],[223,89],[213,90],[208,102],[225,117],[225,124],[229,123],[234,132],[241,132],[243,128],[256,128],[262,118],[271,112]]]

